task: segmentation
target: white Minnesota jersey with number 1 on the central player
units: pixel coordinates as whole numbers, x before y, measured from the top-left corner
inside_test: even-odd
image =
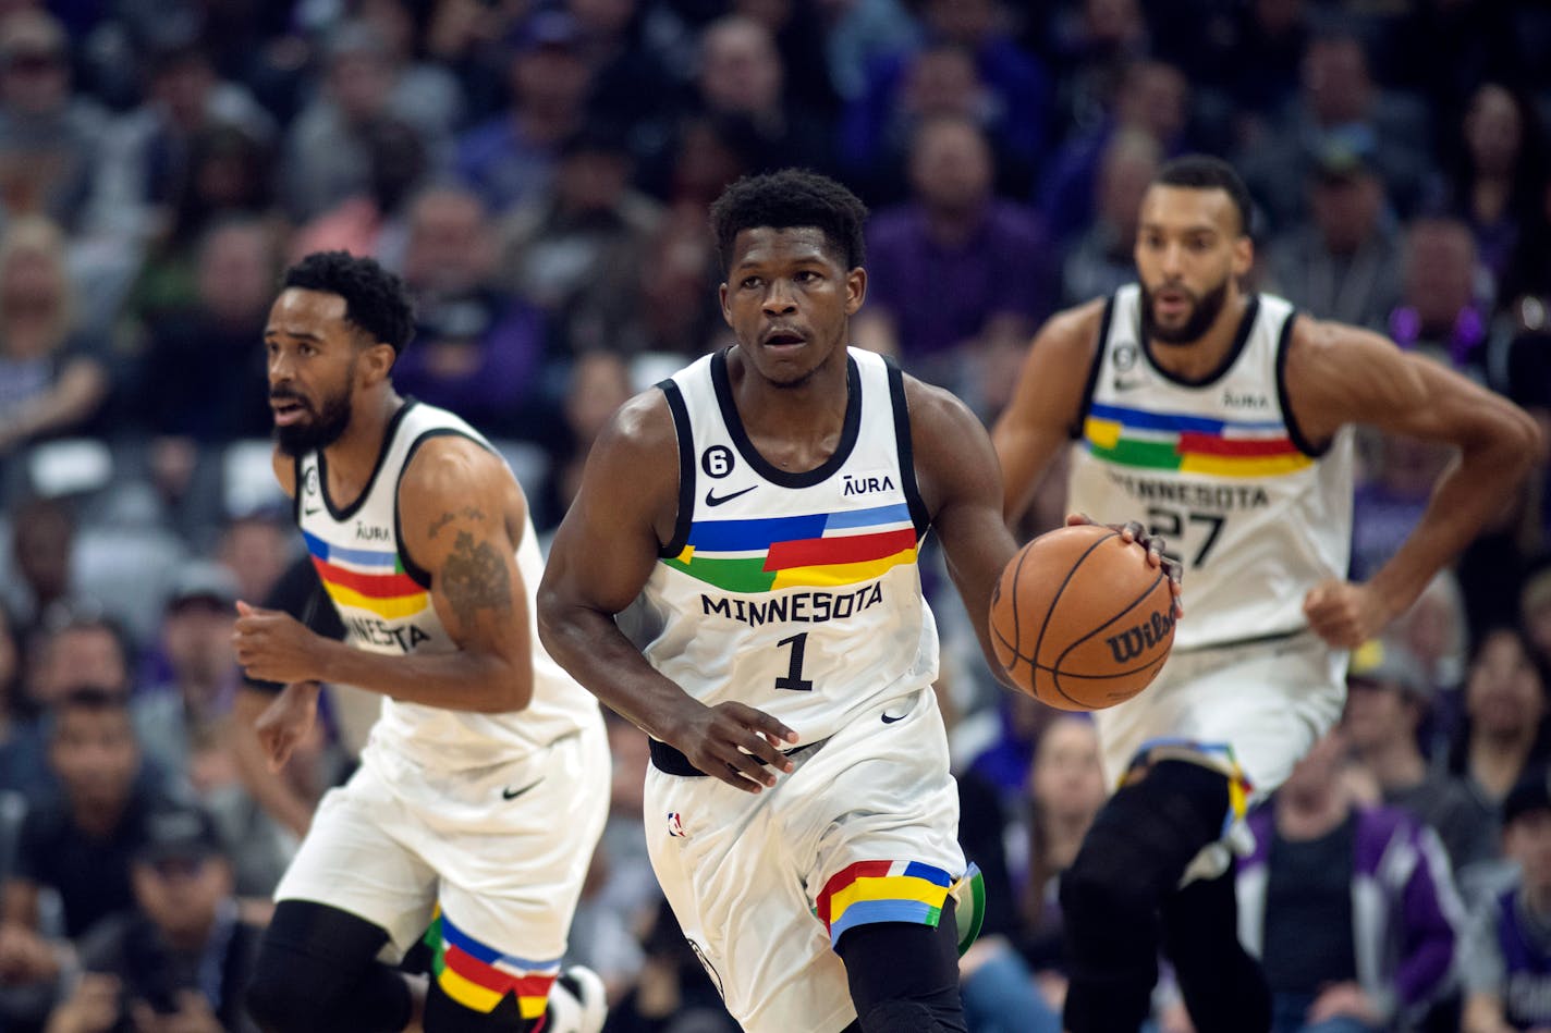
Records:
[[[647,659],[689,695],[765,710],[802,743],[937,676],[904,385],[858,349],[848,383],[839,447],[805,473],[754,450],[726,352],[659,385],[679,444],[678,527],[625,614]]]

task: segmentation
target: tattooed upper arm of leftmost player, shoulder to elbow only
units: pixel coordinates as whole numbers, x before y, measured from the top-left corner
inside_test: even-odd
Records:
[[[529,593],[516,566],[526,518],[506,464],[456,434],[423,442],[399,482],[403,551],[430,575],[453,642],[506,669],[512,709],[527,706],[534,687]]]

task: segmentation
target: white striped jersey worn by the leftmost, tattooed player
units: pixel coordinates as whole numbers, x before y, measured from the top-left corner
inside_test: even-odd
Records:
[[[338,507],[329,498],[327,465],[312,451],[296,461],[296,523],[324,589],[346,627],[346,641],[372,653],[451,651],[458,645],[431,603],[431,577],[405,554],[399,532],[399,479],[430,437],[458,434],[490,448],[445,409],[405,402],[388,423],[377,468],[360,498]],[[495,451],[492,448],[492,451]],[[527,591],[534,698],[510,713],[472,713],[383,700],[371,746],[385,746],[437,771],[516,760],[599,720],[597,701],[538,642],[534,591],[543,558],[532,520],[523,527],[516,568]]]

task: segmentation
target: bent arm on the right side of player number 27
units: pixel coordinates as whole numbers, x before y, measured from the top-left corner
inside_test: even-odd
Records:
[[[1304,600],[1309,625],[1356,647],[1404,613],[1427,582],[1503,512],[1520,479],[1545,459],[1535,422],[1508,399],[1428,358],[1340,323],[1300,320],[1286,368],[1298,428],[1312,444],[1343,423],[1459,450],[1421,521],[1365,585],[1326,583]]]

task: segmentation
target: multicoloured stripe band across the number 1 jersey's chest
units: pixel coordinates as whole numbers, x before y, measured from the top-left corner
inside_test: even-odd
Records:
[[[834,588],[915,563],[910,507],[878,506],[839,513],[763,520],[696,520],[689,543],[664,560],[727,593]]]

